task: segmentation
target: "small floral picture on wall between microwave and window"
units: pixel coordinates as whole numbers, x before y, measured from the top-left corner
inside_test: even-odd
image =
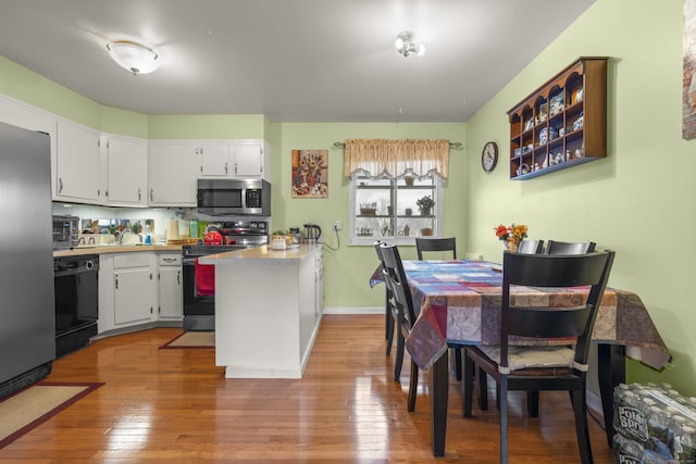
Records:
[[[328,150],[293,150],[293,198],[328,198]]]

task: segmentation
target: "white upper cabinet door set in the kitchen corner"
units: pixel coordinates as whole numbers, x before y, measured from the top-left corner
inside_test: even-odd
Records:
[[[147,206],[147,142],[140,139],[104,135],[101,139],[105,167],[102,184],[105,204]]]

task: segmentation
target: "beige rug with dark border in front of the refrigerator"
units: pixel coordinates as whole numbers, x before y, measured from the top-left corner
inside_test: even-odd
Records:
[[[0,400],[0,449],[102,385],[40,381]]]

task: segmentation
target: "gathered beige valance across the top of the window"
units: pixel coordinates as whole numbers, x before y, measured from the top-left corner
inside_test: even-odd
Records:
[[[351,139],[345,145],[344,174],[357,172],[370,176],[399,177],[412,172],[417,176],[449,175],[449,141],[419,139]]]

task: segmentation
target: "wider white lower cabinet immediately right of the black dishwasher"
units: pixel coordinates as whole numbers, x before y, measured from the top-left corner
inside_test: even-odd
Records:
[[[99,333],[146,324],[157,306],[153,252],[102,254],[99,259]]]

